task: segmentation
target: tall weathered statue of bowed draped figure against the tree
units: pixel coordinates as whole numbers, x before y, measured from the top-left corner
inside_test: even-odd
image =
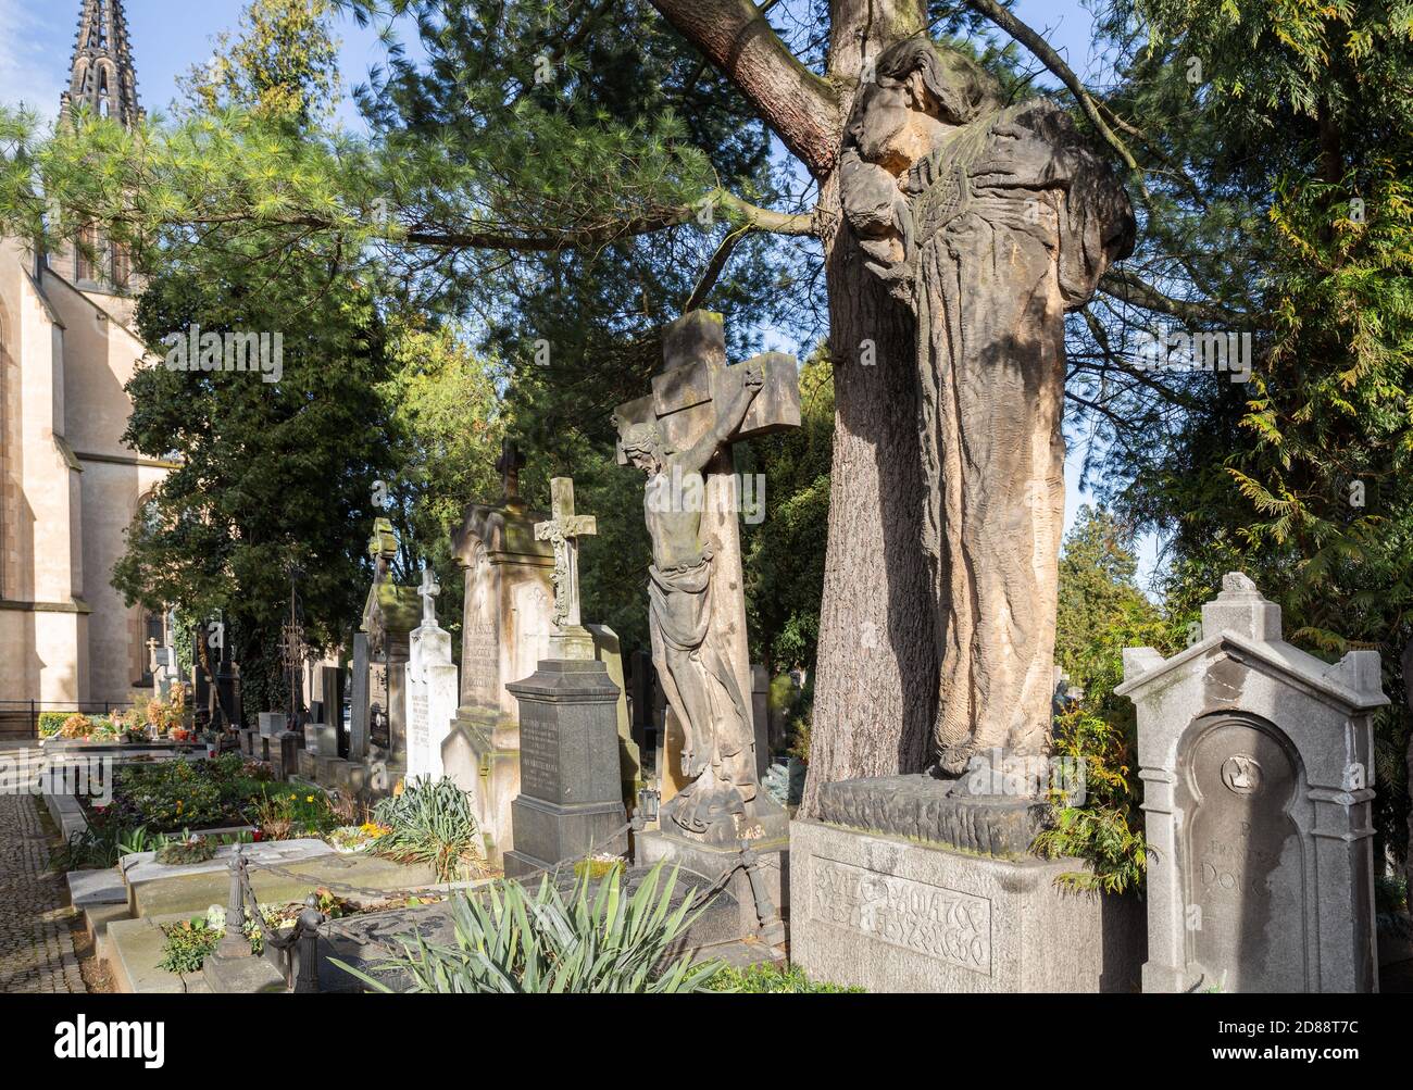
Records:
[[[841,160],[870,271],[917,316],[923,548],[941,771],[1050,741],[1064,525],[1064,315],[1133,248],[1128,198],[1068,116],[1007,106],[969,59],[887,49]]]

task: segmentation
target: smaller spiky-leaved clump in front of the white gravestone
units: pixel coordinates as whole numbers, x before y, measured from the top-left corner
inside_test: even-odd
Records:
[[[398,863],[430,866],[438,881],[475,874],[485,860],[471,796],[451,779],[417,778],[401,793],[373,808],[373,820],[389,827],[370,851]]]

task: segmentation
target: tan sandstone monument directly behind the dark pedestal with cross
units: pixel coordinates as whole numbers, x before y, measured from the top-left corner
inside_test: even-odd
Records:
[[[452,535],[466,572],[461,707],[442,743],[445,772],[471,793],[492,863],[513,844],[510,803],[520,793],[519,706],[506,685],[534,673],[554,631],[554,548],[536,538],[543,514],[520,497],[524,457],[507,441],[496,465],[500,501],[469,505]]]

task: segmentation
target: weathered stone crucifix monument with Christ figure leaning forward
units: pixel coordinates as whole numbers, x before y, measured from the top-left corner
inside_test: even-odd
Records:
[[[615,412],[619,462],[647,474],[653,665],[668,705],[666,760],[680,760],[685,781],[668,795],[674,769],[664,768],[660,830],[640,836],[639,849],[640,861],[666,858],[715,875],[743,843],[776,864],[788,847],[786,813],[762,791],[756,762],[731,446],[798,426],[800,384],[794,359],[780,353],[731,366],[721,315],[704,311],[664,330],[663,357],[653,393]],[[766,871],[780,905],[780,868]],[[756,904],[740,871],[732,881],[740,905]]]

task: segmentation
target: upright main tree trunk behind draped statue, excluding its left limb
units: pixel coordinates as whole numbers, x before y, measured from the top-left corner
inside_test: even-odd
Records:
[[[831,4],[829,79],[845,89],[842,120],[863,66],[924,27],[926,4],[916,0]],[[935,601],[921,548],[917,323],[863,267],[844,222],[838,174],[822,179],[820,208],[835,415],[804,816],[815,813],[824,784],[920,771],[937,712]]]

